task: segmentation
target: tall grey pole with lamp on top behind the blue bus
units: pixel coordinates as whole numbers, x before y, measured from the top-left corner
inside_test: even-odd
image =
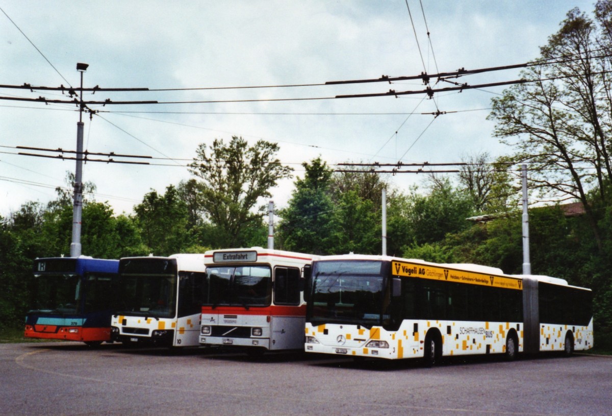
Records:
[[[81,216],[83,214],[83,72],[88,64],[76,64],[76,70],[81,73],[80,105],[78,123],[76,123],[76,171],[74,204],[72,209],[72,243],[70,257],[81,255]]]

